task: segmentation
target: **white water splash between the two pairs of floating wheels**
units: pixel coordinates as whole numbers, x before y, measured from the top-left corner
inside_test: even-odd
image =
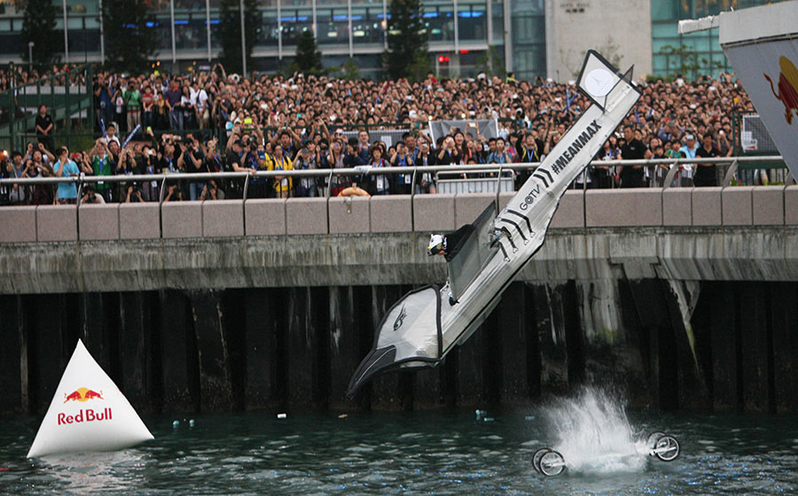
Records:
[[[586,387],[574,398],[544,409],[552,448],[575,472],[637,472],[645,468],[645,438],[636,436],[622,401],[607,391]]]

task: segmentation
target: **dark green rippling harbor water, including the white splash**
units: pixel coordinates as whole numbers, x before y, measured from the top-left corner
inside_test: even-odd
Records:
[[[281,415],[282,416],[282,415]],[[145,416],[155,439],[27,460],[40,419],[0,422],[4,494],[794,494],[798,418],[630,411],[600,391],[528,411]],[[487,420],[486,420],[487,419]],[[192,422],[193,421],[193,422]],[[639,449],[676,438],[665,463]],[[542,446],[566,471],[532,465]]]

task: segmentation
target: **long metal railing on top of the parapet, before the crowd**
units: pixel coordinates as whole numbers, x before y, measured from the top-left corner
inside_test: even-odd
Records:
[[[781,156],[758,156],[758,157],[724,157],[713,159],[649,159],[649,160],[593,160],[590,167],[606,167],[609,166],[645,166],[645,167],[658,167],[660,165],[668,166],[668,173],[664,177],[664,183],[661,185],[651,185],[652,187],[661,187],[668,189],[671,187],[674,177],[679,171],[679,167],[685,164],[728,164],[729,168],[725,173],[724,182],[720,186],[728,187],[732,185],[732,178],[737,171],[740,164],[754,165],[757,163],[782,163]],[[278,170],[278,171],[252,171],[252,172],[218,172],[218,173],[169,173],[169,174],[138,174],[138,175],[77,175],[72,177],[35,177],[35,178],[3,178],[0,179],[0,189],[4,186],[12,184],[20,185],[35,185],[35,184],[60,184],[60,183],[74,183],[78,187],[78,201],[82,197],[82,188],[86,184],[92,183],[136,183],[136,182],[158,182],[160,185],[160,198],[159,201],[164,201],[166,186],[168,182],[203,182],[208,180],[239,180],[243,181],[243,199],[247,199],[247,191],[249,185],[254,178],[273,179],[276,177],[292,177],[292,178],[325,178],[326,182],[330,184],[334,176],[374,176],[379,174],[412,174],[411,179],[411,195],[415,195],[412,186],[418,184],[419,174],[495,174],[491,177],[497,182],[497,196],[502,192],[500,180],[506,178],[508,170],[521,171],[521,170],[535,170],[540,166],[540,163],[515,163],[515,164],[481,164],[481,165],[459,165],[459,166],[426,166],[426,167],[354,167],[354,168],[337,168],[337,169],[311,169],[311,170]],[[484,177],[480,181],[485,181]],[[792,174],[787,173],[787,185],[794,182]],[[583,184],[587,189],[587,184]],[[331,188],[326,188],[325,197],[330,197]],[[506,190],[505,190],[506,192]],[[239,198],[239,199],[242,199]]]

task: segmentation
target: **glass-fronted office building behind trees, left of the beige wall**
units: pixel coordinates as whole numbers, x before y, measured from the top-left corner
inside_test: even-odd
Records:
[[[113,0],[110,0],[113,1]],[[116,0],[121,1],[121,0]],[[101,54],[98,0],[53,0],[59,8],[56,29],[66,26],[61,60],[99,61]],[[205,65],[219,51],[216,27],[219,0],[150,0],[155,14],[157,58],[166,66]],[[364,76],[379,74],[379,54],[386,47],[389,0],[259,0],[261,19],[250,69],[273,71],[290,62],[297,36],[312,30],[325,66],[354,58]],[[518,58],[520,77],[545,74],[544,0],[430,0],[423,3],[429,30],[430,61],[442,75],[475,74],[486,50],[501,65],[507,55]],[[64,14],[66,6],[66,15]],[[0,61],[20,60],[27,45],[20,37],[20,0],[0,0]],[[510,12],[517,12],[511,16]],[[512,22],[512,30],[505,23]],[[247,34],[250,35],[250,34]],[[505,50],[515,45],[516,50]],[[449,61],[439,63],[439,56]],[[512,59],[509,60],[512,67]]]

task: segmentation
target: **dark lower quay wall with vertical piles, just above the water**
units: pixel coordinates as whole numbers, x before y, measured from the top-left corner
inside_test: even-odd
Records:
[[[798,285],[708,282],[686,327],[661,280],[512,283],[439,368],[346,384],[410,285],[0,296],[0,414],[43,414],[78,337],[143,412],[530,407],[613,384],[635,407],[796,412]]]

